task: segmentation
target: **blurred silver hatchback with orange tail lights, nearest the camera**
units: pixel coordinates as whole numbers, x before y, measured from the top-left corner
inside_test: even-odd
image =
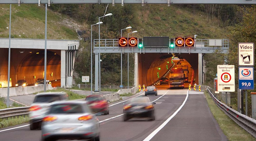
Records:
[[[43,118],[41,141],[100,141],[100,122],[85,101],[54,102]]]

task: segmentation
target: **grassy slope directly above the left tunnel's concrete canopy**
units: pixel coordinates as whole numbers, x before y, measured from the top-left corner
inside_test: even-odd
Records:
[[[0,37],[9,37],[10,5],[0,5]],[[47,10],[47,39],[77,40],[76,28],[81,27],[71,18]],[[38,5],[12,5],[11,37],[45,37],[45,7]]]

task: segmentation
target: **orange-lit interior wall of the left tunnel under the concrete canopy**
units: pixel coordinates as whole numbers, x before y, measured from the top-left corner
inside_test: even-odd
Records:
[[[60,50],[47,50],[47,80],[61,79],[60,53]],[[17,80],[24,80],[24,78],[28,85],[33,85],[37,79],[43,78],[43,72],[44,50],[11,49],[10,86],[15,86]],[[53,76],[51,76],[52,73]],[[7,87],[7,76],[8,49],[0,49],[0,83],[3,87]]]

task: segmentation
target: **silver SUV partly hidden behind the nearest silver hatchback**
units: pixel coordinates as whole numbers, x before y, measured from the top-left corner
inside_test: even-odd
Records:
[[[68,100],[66,92],[42,92],[35,95],[34,102],[29,108],[30,130],[40,129],[48,107],[54,101]]]

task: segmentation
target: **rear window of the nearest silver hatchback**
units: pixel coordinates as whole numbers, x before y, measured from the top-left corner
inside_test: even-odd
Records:
[[[81,104],[54,104],[49,114],[77,114],[83,113]]]

